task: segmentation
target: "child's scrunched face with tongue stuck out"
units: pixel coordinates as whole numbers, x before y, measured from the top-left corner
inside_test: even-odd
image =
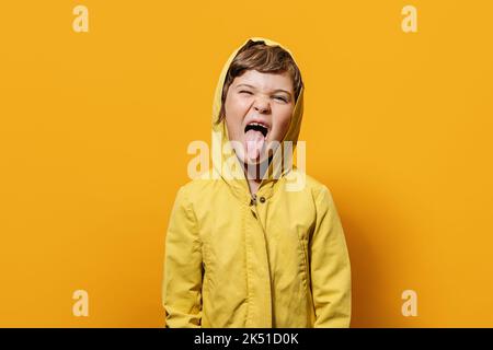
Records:
[[[242,145],[237,154],[243,163],[266,159],[267,145],[280,142],[287,132],[294,108],[295,93],[288,72],[248,70],[233,80],[225,102],[226,126],[229,140]]]

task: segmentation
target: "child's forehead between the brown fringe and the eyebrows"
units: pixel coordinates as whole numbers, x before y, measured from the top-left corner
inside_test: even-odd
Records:
[[[293,92],[293,79],[288,72],[261,73],[256,70],[248,70],[242,75],[234,78],[232,85],[240,84],[252,85],[262,91],[283,89]]]

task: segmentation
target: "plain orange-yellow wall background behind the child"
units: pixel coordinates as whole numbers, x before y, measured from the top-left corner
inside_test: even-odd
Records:
[[[89,9],[89,33],[72,9]],[[406,4],[417,33],[401,30]],[[295,55],[300,140],[353,267],[354,327],[493,326],[491,1],[9,1],[0,326],[161,327],[186,147],[250,36]],[[89,317],[72,315],[89,292]],[[417,292],[416,317],[401,314]]]

